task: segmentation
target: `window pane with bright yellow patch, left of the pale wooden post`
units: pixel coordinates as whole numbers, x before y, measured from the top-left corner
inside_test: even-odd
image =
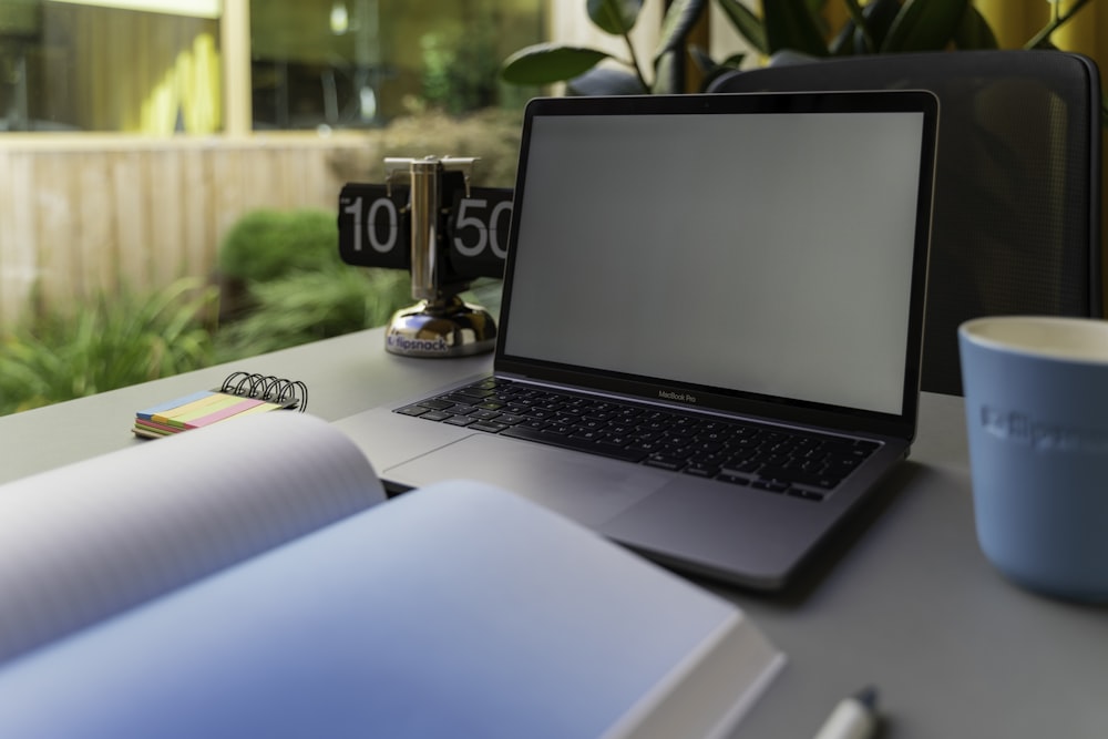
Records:
[[[216,131],[218,38],[213,1],[3,0],[0,129]]]

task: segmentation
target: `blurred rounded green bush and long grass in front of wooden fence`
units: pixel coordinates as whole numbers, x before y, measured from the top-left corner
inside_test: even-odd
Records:
[[[0,339],[0,414],[380,326],[412,302],[407,273],[350,267],[337,245],[329,212],[258,211],[219,254],[238,280],[223,288],[245,294],[230,318],[214,318],[219,288],[187,278],[25,320]]]

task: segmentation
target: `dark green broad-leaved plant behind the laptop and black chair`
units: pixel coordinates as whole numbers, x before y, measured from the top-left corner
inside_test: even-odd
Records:
[[[565,82],[568,94],[644,94],[697,92],[718,74],[736,69],[741,55],[716,61],[707,50],[690,43],[693,30],[709,0],[674,0],[661,21],[661,33],[650,60],[642,60],[630,42],[643,0],[586,0],[588,18],[605,33],[625,40],[627,57],[566,43],[526,47],[509,57],[501,75],[513,84],[543,85]],[[996,35],[970,0],[842,0],[847,21],[827,33],[824,2],[763,0],[762,13],[740,0],[714,0],[750,47],[770,63],[798,55],[824,58],[861,53],[895,53],[941,49],[995,49]],[[1053,2],[1050,21],[1027,48],[1049,49],[1050,34],[1091,0],[1075,0],[1068,9]],[[830,39],[830,41],[828,40]],[[691,60],[699,83],[689,89],[685,63]],[[602,64],[602,62],[604,62]],[[1108,115],[1108,113],[1106,113]]]

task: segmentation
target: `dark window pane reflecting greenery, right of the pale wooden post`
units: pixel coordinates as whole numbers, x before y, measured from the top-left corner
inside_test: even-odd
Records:
[[[268,0],[250,10],[255,129],[375,125],[425,106],[522,106],[501,61],[538,0]],[[530,91],[533,93],[533,91]]]

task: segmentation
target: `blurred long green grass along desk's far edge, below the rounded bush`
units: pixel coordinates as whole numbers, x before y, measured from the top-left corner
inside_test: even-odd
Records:
[[[198,279],[29,320],[0,339],[0,415],[380,326],[413,302],[406,273],[337,264],[250,292],[250,310],[218,329],[217,289]]]

